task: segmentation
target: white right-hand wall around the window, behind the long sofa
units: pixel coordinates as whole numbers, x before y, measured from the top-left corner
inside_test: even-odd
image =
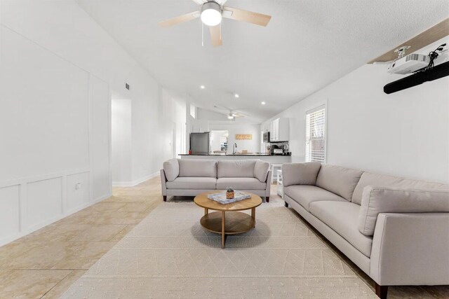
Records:
[[[329,164],[449,183],[449,78],[385,94],[397,79],[366,64],[275,116],[290,118],[293,162],[304,162],[305,112],[327,102]]]

